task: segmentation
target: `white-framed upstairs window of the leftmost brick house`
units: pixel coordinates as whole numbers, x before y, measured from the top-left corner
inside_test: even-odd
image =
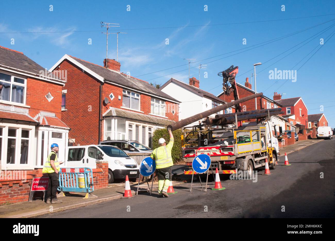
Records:
[[[0,100],[25,104],[26,80],[0,73]]]

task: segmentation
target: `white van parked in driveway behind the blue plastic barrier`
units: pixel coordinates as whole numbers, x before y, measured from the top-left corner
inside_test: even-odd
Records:
[[[135,180],[140,173],[136,161],[116,146],[69,146],[66,157],[66,167],[72,168],[96,168],[95,161],[108,161],[108,183],[113,183],[115,179],[125,179],[126,175]]]

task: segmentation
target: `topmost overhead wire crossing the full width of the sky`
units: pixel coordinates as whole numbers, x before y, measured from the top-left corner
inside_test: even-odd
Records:
[[[245,23],[260,23],[260,22],[274,22],[274,21],[284,21],[284,20],[294,20],[294,19],[303,19],[303,18],[314,18],[314,17],[323,17],[335,15],[335,13],[324,14],[324,15],[315,15],[307,17],[296,17],[296,18],[283,18],[283,19],[273,19],[273,20],[261,20],[261,21],[249,21],[249,22],[237,22],[237,23],[217,23],[217,24],[205,24],[205,25],[190,25],[190,26],[172,26],[172,27],[150,27],[150,28],[128,28],[120,29],[119,31],[125,30],[147,30],[147,29],[164,29],[164,28],[186,28],[186,27],[205,27],[205,26],[219,26],[219,25],[230,25],[230,24],[245,24]],[[78,32],[100,32],[100,30],[82,30],[82,31],[39,31],[39,32],[0,32],[4,33],[78,33]]]

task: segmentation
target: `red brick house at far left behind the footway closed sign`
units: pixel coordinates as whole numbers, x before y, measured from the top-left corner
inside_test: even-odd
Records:
[[[65,83],[22,52],[0,46],[0,204],[28,200],[31,179],[42,175],[51,143],[59,144],[64,160]]]

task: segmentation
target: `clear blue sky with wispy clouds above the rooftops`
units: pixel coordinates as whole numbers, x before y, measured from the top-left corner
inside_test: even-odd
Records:
[[[53,11],[49,10],[51,4]],[[127,5],[130,5],[130,11],[127,11]],[[204,11],[204,5],[208,6],[208,11]],[[281,11],[282,5],[285,5],[285,11]],[[244,84],[245,78],[251,77],[253,73],[254,63],[265,63],[300,42],[311,40],[306,45],[302,46],[307,41],[257,67],[257,91],[264,92],[270,98],[273,92],[285,93],[283,98],[301,96],[309,114],[324,113],[329,125],[335,127],[335,36],[322,47],[320,45],[320,38],[324,38],[325,42],[326,37],[335,31],[335,25],[332,26],[335,15],[327,15],[335,13],[333,1],[239,1],[236,4],[231,1],[209,0],[107,3],[2,1],[0,6],[6,10],[1,11],[0,45],[24,52],[43,67],[51,68],[64,54],[103,65],[106,57],[106,35],[101,33],[103,29],[100,21],[120,23],[120,27],[115,29],[127,32],[119,35],[122,72],[129,71],[132,76],[159,84],[165,83],[171,77],[188,83],[188,65],[184,58],[195,58],[199,61],[191,64],[195,68],[190,69],[191,77],[197,78],[199,70],[196,66],[213,61],[207,64],[206,69],[201,69],[200,88],[215,95],[222,91],[222,77],[217,76],[218,72],[231,65],[239,66],[237,81]],[[327,16],[269,21],[317,15]],[[253,21],[266,22],[230,24]],[[329,22],[325,23],[326,21]],[[320,25],[264,46],[248,48],[317,24]],[[192,27],[194,25],[205,26]],[[188,27],[159,28],[176,26]],[[157,27],[158,29],[131,30]],[[327,27],[329,28],[326,29]],[[317,33],[323,30],[325,32],[318,36]],[[89,32],[22,33],[59,31]],[[313,35],[315,36],[312,37]],[[14,44],[11,44],[12,38]],[[88,44],[89,38],[92,39],[92,44]],[[169,38],[168,45],[165,44],[166,38]],[[247,44],[243,44],[244,38]],[[300,48],[297,49],[298,47]],[[316,52],[319,47],[320,50]],[[242,48],[245,49],[210,58]],[[305,57],[314,48],[316,49]],[[295,49],[297,50],[278,61]],[[314,52],[315,55],[299,69]],[[231,54],[235,55],[229,56]],[[116,34],[109,35],[108,57],[116,58]],[[210,59],[200,61],[205,58]],[[298,62],[300,63],[296,65]],[[180,65],[185,66],[164,70]],[[278,80],[275,83],[277,80],[269,79],[269,71],[275,68],[293,68],[293,71],[299,69],[296,82],[288,80],[282,85],[285,80]],[[155,71],[160,72],[146,75]],[[205,71],[208,78],[204,78]],[[254,83],[252,85],[254,88]],[[324,106],[324,112],[320,111],[321,105]]]

